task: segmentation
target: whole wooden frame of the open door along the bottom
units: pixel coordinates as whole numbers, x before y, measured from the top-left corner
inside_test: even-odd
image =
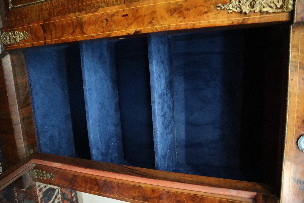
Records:
[[[55,176],[54,180],[33,177],[34,181],[128,202],[154,202],[156,199],[169,202],[172,198],[174,201],[227,203],[277,201],[266,185],[43,153],[30,156],[0,175],[0,189],[32,168]]]

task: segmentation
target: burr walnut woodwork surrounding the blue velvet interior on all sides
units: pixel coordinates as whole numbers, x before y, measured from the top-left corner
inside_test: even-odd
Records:
[[[61,2],[61,0],[58,0]],[[44,2],[41,5],[53,6],[55,1]],[[142,2],[124,1],[116,2],[113,7],[107,7],[109,2],[101,6],[102,1],[83,1],[79,5],[67,5],[65,8],[56,7],[55,10],[39,11],[30,14],[29,7],[23,7],[18,10],[19,16],[15,11],[7,12],[8,25],[2,29],[6,31],[27,31],[30,37],[19,43],[5,46],[5,50],[40,46],[47,44],[57,44],[71,41],[108,38],[108,37],[126,37],[133,34],[149,34],[155,32],[171,32],[174,30],[201,29],[207,27],[220,27],[226,29],[234,26],[260,26],[261,24],[274,24],[290,22],[292,13],[254,13],[247,15],[240,13],[228,13],[227,11],[218,11],[218,3],[227,3],[229,1],[211,0],[208,2],[199,0],[147,0]],[[122,3],[130,3],[120,5]],[[32,5],[31,8],[38,8],[41,5]],[[7,6],[7,5],[5,5]],[[107,7],[107,8],[101,8]],[[96,9],[90,10],[88,9]],[[297,11],[295,12],[295,21],[302,21],[302,3],[298,2]],[[34,9],[34,10],[35,10]],[[58,13],[59,12],[59,16]],[[71,14],[73,12],[73,14]],[[191,12],[191,13],[190,13]],[[40,17],[40,15],[42,17]],[[57,16],[57,17],[56,17]],[[109,17],[110,16],[110,17]],[[160,18],[162,16],[163,18]],[[149,20],[152,19],[152,20]],[[33,22],[35,21],[35,22]],[[23,23],[23,24],[20,24]],[[296,149],[295,140],[298,135],[303,133],[301,127],[301,101],[302,93],[302,25],[293,26],[292,33],[292,53],[291,69],[289,79],[289,109],[288,109],[288,126],[286,130],[286,151],[284,155],[284,171],[281,201],[282,202],[302,202],[300,187],[303,186],[303,174],[301,155]],[[13,63],[18,58],[19,63]],[[12,181],[16,180],[22,174],[26,173],[33,167],[41,170],[48,170],[57,177],[53,180],[38,180],[43,183],[64,186],[86,191],[92,194],[98,194],[110,198],[116,198],[124,201],[138,202],[136,197],[125,198],[112,190],[113,194],[109,195],[102,192],[98,181],[109,181],[109,184],[123,183],[133,184],[136,187],[157,188],[159,192],[169,191],[172,194],[186,194],[204,196],[210,198],[212,202],[216,198],[224,198],[225,201],[238,202],[277,202],[273,192],[267,186],[258,185],[234,180],[219,180],[210,177],[199,177],[185,174],[176,174],[148,169],[139,169],[135,167],[117,166],[107,163],[96,163],[80,159],[54,156],[49,154],[37,153],[26,159],[32,152],[37,152],[35,130],[31,102],[28,90],[28,82],[24,58],[21,52],[11,52],[2,59],[2,70],[0,71],[0,88],[7,94],[7,98],[0,100],[0,108],[5,114],[0,126],[5,126],[0,131],[0,140],[2,143],[9,143],[6,146],[9,150],[4,150],[5,159],[10,164],[22,162],[13,166],[0,176],[1,187],[5,187]],[[5,80],[3,80],[5,78]],[[26,86],[27,91],[18,91],[22,86]],[[3,130],[4,129],[4,130]],[[8,154],[5,154],[9,152]],[[297,168],[295,168],[297,166]],[[63,175],[66,174],[66,175]],[[67,175],[68,174],[68,175]],[[76,187],[71,186],[64,177],[81,177],[76,178]],[[81,181],[89,181],[92,188],[87,190],[81,184]],[[111,182],[112,181],[112,182]],[[110,183],[111,182],[111,183]],[[132,182],[132,183],[131,183]],[[99,183],[99,182],[98,182]],[[95,188],[94,188],[95,187]],[[114,187],[114,186],[113,186]],[[133,187],[127,187],[128,192]],[[168,189],[170,187],[170,189]],[[97,188],[97,189],[96,189]],[[118,190],[118,189],[117,189]],[[152,189],[153,190],[153,189]],[[170,194],[171,194],[170,193]],[[174,193],[174,194],[175,194]],[[150,197],[152,193],[147,193]],[[187,197],[188,197],[187,196]],[[195,197],[196,197],[195,196]],[[211,200],[212,199],[212,200]],[[166,200],[167,201],[167,200]],[[169,201],[169,200],[168,200]],[[144,201],[145,202],[145,201]],[[149,202],[149,201],[146,201]]]

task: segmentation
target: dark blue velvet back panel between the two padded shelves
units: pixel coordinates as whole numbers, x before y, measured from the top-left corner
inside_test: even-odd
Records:
[[[155,169],[147,38],[116,41],[115,60],[124,157]]]

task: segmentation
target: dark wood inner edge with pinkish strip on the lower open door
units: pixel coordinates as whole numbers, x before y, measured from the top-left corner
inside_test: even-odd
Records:
[[[111,163],[95,162],[57,155],[38,153],[31,156],[34,163],[52,166],[57,169],[88,173],[119,180],[166,186],[184,190],[209,192],[245,198],[254,198],[257,192],[273,194],[267,185],[228,180],[213,177],[203,177],[182,173],[144,169],[132,166],[121,166]]]

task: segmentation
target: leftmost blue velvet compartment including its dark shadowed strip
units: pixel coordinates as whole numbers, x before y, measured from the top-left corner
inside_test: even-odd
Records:
[[[24,55],[40,152],[89,159],[78,46],[35,47]]]

